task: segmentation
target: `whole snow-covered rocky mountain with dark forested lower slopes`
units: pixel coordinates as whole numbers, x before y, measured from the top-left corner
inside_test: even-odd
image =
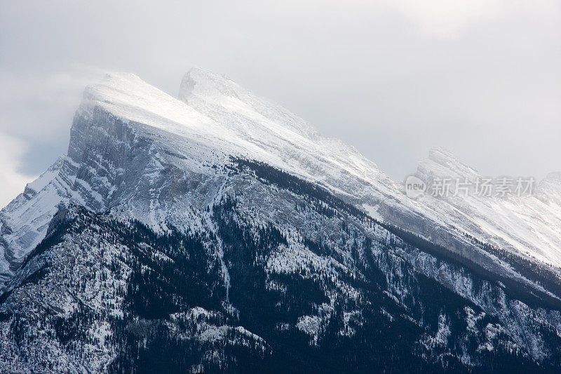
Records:
[[[413,201],[223,76],[108,76],[0,212],[0,371],[558,371],[559,180]]]

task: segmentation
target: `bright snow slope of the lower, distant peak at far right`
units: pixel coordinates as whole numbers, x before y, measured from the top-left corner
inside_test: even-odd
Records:
[[[475,185],[483,175],[461,163],[444,149],[433,149],[422,161],[417,176],[468,180]],[[451,193],[435,198],[419,198],[428,210],[438,211],[450,225],[479,239],[509,248],[522,255],[561,266],[561,180],[551,174],[541,181],[532,194],[517,196],[478,196],[473,193]]]

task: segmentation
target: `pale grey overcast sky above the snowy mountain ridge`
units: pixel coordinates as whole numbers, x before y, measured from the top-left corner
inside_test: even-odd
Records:
[[[484,175],[561,171],[558,0],[6,0],[0,206],[66,152],[86,84],[127,71],[176,95],[192,66],[279,102],[395,180],[436,146]]]

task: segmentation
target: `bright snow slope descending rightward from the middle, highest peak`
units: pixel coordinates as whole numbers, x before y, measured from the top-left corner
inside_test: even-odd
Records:
[[[184,76],[179,98],[259,147],[267,157],[264,161],[325,182],[345,194],[352,191],[347,185],[353,182],[375,187],[370,193],[378,196],[396,194],[396,185],[356,149],[322,138],[303,119],[219,74],[191,69]]]

